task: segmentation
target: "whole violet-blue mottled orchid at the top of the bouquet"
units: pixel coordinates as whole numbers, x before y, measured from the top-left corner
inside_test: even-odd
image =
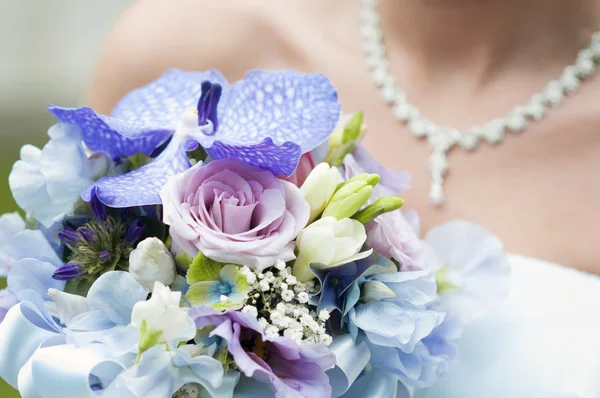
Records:
[[[189,115],[187,125],[180,123],[189,108],[197,111],[195,128]],[[79,126],[89,149],[115,160],[138,152],[150,155],[171,139],[151,163],[93,184],[106,205],[133,207],[160,204],[160,188],[168,177],[190,167],[186,149],[196,143],[212,159],[237,158],[290,176],[303,153],[327,140],[340,104],[334,87],[320,74],[252,71],[229,85],[215,70],[169,70],[127,94],[111,116],[89,107],[50,105],[49,110],[61,122]],[[85,200],[92,187],[82,194]]]

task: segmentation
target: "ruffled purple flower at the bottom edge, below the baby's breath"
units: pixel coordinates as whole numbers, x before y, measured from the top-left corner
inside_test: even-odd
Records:
[[[269,384],[276,398],[331,397],[325,372],[335,365],[335,355],[325,345],[298,345],[281,336],[267,338],[251,314],[193,307],[188,315],[198,329],[217,326],[211,336],[226,340],[239,370]]]

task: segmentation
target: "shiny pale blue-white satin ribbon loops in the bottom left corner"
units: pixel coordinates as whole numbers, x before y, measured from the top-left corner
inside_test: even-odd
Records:
[[[123,366],[96,344],[65,344],[32,304],[22,302],[0,323],[0,377],[23,398],[98,398]]]

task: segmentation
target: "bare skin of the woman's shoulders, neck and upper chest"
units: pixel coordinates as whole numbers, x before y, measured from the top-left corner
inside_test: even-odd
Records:
[[[253,68],[328,76],[345,112],[365,111],[364,145],[413,175],[402,197],[422,227],[481,224],[507,251],[600,273],[600,73],[500,145],[454,149],[446,203],[428,203],[428,145],[381,100],[364,66],[358,1],[139,0],[118,21],[87,104],[109,113],[165,69]],[[600,26],[597,0],[381,0],[391,71],[423,114],[466,129],[506,114],[570,64]]]

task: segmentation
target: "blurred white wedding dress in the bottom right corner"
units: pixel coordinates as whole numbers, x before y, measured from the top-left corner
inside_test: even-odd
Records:
[[[459,363],[416,398],[600,397],[600,277],[510,258],[506,301],[465,329]]]

